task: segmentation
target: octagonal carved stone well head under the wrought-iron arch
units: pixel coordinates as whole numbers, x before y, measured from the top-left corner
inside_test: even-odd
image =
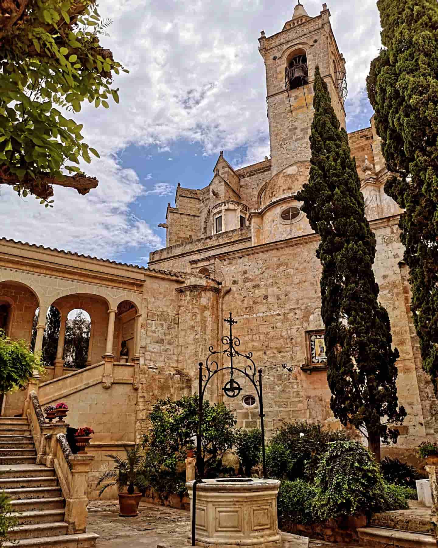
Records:
[[[186,483],[193,519],[193,483]],[[205,479],[196,486],[198,546],[278,546],[278,479]]]

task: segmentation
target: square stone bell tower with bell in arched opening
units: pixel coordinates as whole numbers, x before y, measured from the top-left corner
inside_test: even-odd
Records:
[[[310,159],[316,65],[328,85],[339,122],[345,127],[345,59],[333,35],[327,4],[322,4],[319,15],[310,17],[298,0],[292,19],[283,30],[269,37],[262,31],[258,42],[266,66],[271,174],[274,176],[292,163]]]

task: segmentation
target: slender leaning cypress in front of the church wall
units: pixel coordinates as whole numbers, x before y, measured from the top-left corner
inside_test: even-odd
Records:
[[[297,199],[321,237],[321,315],[325,326],[330,406],[341,423],[361,430],[376,459],[381,438],[396,442],[405,409],[398,407],[397,349],[391,348],[388,312],[378,302],[372,265],[376,238],[365,218],[364,197],[348,136],[316,67],[309,182]],[[387,421],[384,423],[382,419]]]

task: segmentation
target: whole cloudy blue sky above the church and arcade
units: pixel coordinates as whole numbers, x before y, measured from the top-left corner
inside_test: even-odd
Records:
[[[146,265],[164,246],[168,202],[177,182],[201,188],[220,150],[234,167],[269,155],[260,31],[272,35],[295,3],[282,0],[106,0],[114,20],[103,45],[130,70],[114,82],[120,103],[84,105],[74,118],[101,159],[83,168],[99,179],[87,196],[55,189],[54,208],[0,194],[2,236],[121,262]],[[310,16],[321,3],[304,2]],[[365,92],[380,47],[375,1],[331,0],[331,24],[347,60],[347,130],[369,125]]]

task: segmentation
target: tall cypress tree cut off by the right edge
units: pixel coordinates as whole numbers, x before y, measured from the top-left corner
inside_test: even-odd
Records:
[[[411,311],[423,368],[438,395],[438,4],[379,0],[384,49],[367,91],[390,172],[385,192],[405,213],[399,227],[410,269]]]

